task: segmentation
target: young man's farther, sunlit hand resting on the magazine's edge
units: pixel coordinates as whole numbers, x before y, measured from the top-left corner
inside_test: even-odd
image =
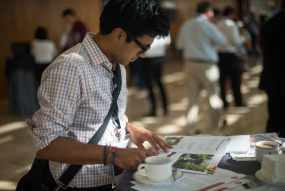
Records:
[[[167,148],[173,148],[173,146],[163,141],[154,132],[143,127],[127,123],[126,130],[131,134],[132,141],[141,149],[144,149],[142,144],[145,141],[148,141],[157,153],[160,153],[158,145],[164,152],[169,152]]]

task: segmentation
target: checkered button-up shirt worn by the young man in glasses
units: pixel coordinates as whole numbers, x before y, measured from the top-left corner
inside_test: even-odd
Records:
[[[108,113],[112,103],[113,65],[92,39],[94,35],[87,33],[82,43],[61,54],[44,71],[38,90],[41,108],[33,116],[36,127],[30,127],[35,153],[58,137],[88,143]],[[126,71],[121,64],[120,67],[122,89],[117,103],[122,128],[118,129],[111,119],[99,145],[125,136]],[[49,166],[58,183],[69,164],[50,161]],[[111,167],[94,164],[84,165],[68,186],[89,188],[112,182]]]

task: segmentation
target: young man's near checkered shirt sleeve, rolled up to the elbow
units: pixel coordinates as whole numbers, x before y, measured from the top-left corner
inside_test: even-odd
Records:
[[[82,92],[76,64],[55,61],[43,73],[38,90],[40,109],[33,116],[35,127],[30,127],[35,153],[56,138],[67,137],[76,109],[83,102]]]

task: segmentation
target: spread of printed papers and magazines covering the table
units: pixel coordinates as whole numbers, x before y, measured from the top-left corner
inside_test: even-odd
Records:
[[[183,178],[167,185],[145,184],[132,181],[136,190],[199,190],[221,191],[243,189],[241,185],[245,175],[218,168],[225,153],[230,153],[233,160],[255,160],[255,143],[270,140],[281,143],[276,133],[237,136],[180,136],[163,138],[174,148],[169,153],[161,150],[160,156],[171,159],[172,166],[184,173]],[[153,150],[153,148],[151,148]]]

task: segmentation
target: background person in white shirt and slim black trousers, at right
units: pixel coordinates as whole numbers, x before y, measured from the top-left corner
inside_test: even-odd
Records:
[[[231,86],[235,98],[235,106],[242,107],[242,95],[240,91],[240,67],[236,57],[238,47],[245,42],[245,36],[240,34],[237,24],[233,21],[235,12],[232,7],[227,7],[224,10],[225,18],[218,23],[220,31],[227,37],[227,43],[224,46],[218,47],[220,61],[220,87],[221,97],[224,103],[224,109],[228,108],[226,100],[225,82],[227,76],[231,79]]]

